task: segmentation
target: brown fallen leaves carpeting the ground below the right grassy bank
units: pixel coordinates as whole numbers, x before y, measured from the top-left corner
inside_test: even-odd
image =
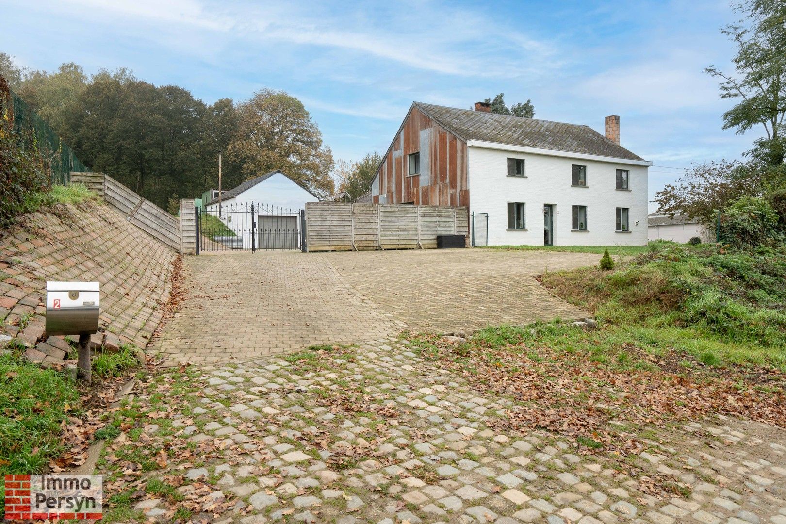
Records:
[[[440,349],[439,365],[487,391],[510,395],[519,405],[494,425],[526,432],[540,428],[572,438],[586,453],[639,453],[645,447],[632,431],[615,429],[700,420],[708,413],[737,416],[786,427],[783,390],[764,392],[737,387],[736,377],[610,368],[578,354],[558,354],[548,347],[523,344],[499,348],[457,347],[436,336],[425,337]],[[534,351],[538,360],[527,357]],[[455,357],[468,361],[456,361]],[[472,371],[469,369],[472,368]],[[578,442],[592,438],[597,450]]]

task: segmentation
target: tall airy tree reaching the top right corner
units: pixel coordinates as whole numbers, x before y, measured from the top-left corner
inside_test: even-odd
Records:
[[[721,80],[721,97],[737,101],[724,113],[723,128],[741,134],[762,126],[766,137],[751,156],[780,166],[786,152],[786,2],[747,0],[735,9],[743,19],[722,29],[737,46],[735,74],[712,65],[706,71]]]

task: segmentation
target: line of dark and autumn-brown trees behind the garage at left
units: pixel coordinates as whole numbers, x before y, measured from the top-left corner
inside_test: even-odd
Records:
[[[0,53],[0,75],[79,159],[160,207],[280,169],[314,194],[334,191],[332,152],[303,104],[282,91],[205,104],[179,86],[154,86],[131,71],[88,76],[18,68]]]

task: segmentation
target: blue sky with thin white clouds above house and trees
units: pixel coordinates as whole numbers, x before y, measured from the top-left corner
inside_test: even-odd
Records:
[[[721,129],[733,102],[703,73],[730,70],[725,1],[3,3],[0,51],[21,65],[127,67],[208,103],[285,90],[336,159],[384,152],[412,101],[468,108],[500,92],[601,133],[620,115],[622,144],[656,164],[651,196],[673,168],[739,158],[758,137]]]

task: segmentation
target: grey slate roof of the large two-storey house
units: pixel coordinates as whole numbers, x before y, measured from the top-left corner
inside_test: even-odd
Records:
[[[446,108],[423,102],[414,102],[413,105],[465,141],[482,140],[587,155],[644,160],[589,126]]]

